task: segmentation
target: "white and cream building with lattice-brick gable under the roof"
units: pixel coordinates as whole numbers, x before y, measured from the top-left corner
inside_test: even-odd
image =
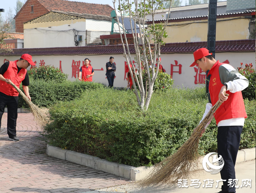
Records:
[[[111,26],[111,16],[50,11],[24,23],[24,48],[101,45]]]

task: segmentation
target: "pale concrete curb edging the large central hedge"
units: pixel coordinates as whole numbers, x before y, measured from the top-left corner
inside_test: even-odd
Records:
[[[84,165],[86,167],[91,167],[100,171],[111,173],[126,179],[131,179],[134,181],[144,179],[153,169],[152,167],[133,167],[130,165],[124,165],[120,163],[115,163],[107,161],[106,159],[100,159],[99,157],[93,157],[91,155],[86,155],[83,153],[77,153],[75,151],[70,151],[66,149],[61,149],[59,147],[54,147],[47,144],[46,154],[52,157],[57,157],[66,161],[77,163],[79,165]],[[256,148],[242,149],[238,151],[236,157],[236,163],[241,163],[244,161],[253,160],[256,157]],[[202,162],[203,157],[199,160]],[[199,164],[200,165],[200,164]],[[200,165],[197,169],[203,169]]]

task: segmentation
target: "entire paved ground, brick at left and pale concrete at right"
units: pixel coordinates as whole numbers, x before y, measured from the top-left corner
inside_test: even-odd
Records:
[[[20,141],[8,141],[7,113],[2,117],[0,130],[0,193],[215,193],[216,180],[200,170],[191,179],[213,179],[212,188],[168,186],[140,188],[128,179],[116,177],[89,167],[46,155],[46,142],[39,134],[31,113],[18,113],[17,137]],[[237,193],[255,193],[255,160],[236,164],[236,177],[252,179],[252,188],[237,189]],[[189,181],[189,180],[188,180]],[[219,185],[220,187],[220,185]]]

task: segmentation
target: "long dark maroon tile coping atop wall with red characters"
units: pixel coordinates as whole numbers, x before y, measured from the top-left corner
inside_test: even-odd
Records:
[[[193,53],[199,48],[206,48],[207,42],[167,43],[161,48],[161,54]],[[255,52],[255,39],[216,41],[216,52]],[[0,56],[32,56],[42,55],[94,55],[123,54],[122,45],[83,46],[62,48],[23,48],[13,49],[13,53],[1,53]],[[130,53],[135,54],[134,45],[130,45]]]

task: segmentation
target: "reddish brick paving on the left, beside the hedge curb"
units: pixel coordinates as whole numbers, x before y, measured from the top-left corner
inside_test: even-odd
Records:
[[[0,193],[81,193],[128,183],[128,179],[46,155],[32,113],[18,113],[17,137],[9,141],[7,113],[0,130]]]

